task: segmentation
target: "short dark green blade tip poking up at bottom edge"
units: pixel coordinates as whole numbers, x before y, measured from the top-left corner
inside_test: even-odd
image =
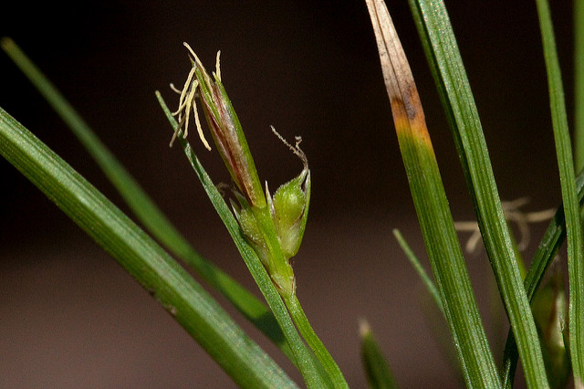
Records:
[[[367,321],[360,321],[359,332],[361,337],[361,359],[370,388],[397,388],[398,385],[391,373],[390,366],[385,361],[380,346],[375,341]]]

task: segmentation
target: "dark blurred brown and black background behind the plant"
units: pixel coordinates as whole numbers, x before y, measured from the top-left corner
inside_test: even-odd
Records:
[[[358,320],[375,331],[402,387],[459,384],[433,333],[442,326],[392,235],[426,262],[364,1],[86,1],[5,8],[13,37],[206,258],[256,290],[154,97],[174,106],[189,42],[222,76],[261,178],[301,169],[271,134],[303,137],[313,177],[304,245],[294,260],[308,318],[353,387],[366,381]],[[537,13],[531,1],[447,2],[503,199],[526,210],[560,200]],[[452,211],[472,217],[464,178],[407,2],[388,4],[416,79]],[[572,81],[571,3],[552,15],[564,83]],[[78,141],[0,54],[0,106],[121,209],[128,208]],[[571,112],[572,89],[566,89]],[[571,121],[571,118],[570,118]],[[191,142],[196,142],[194,134]],[[196,152],[214,181],[216,152]],[[0,160],[0,387],[230,387],[234,384],[149,294]],[[543,226],[533,231],[540,237]],[[467,235],[461,235],[464,240]],[[528,249],[533,252],[536,242]],[[500,360],[505,326],[489,319],[484,252],[466,256]],[[224,300],[229,312],[245,329]],[[498,329],[498,330],[497,330]],[[293,377],[294,369],[257,331]]]

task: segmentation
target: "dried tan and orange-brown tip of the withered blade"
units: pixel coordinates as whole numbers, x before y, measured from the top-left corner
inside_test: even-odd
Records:
[[[387,6],[382,0],[366,0],[380,52],[385,88],[398,135],[409,133],[432,149],[412,69],[405,57]]]

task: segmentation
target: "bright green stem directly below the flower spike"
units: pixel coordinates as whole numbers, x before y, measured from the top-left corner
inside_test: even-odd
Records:
[[[332,358],[325,345],[320,342],[316,332],[312,329],[307,315],[304,313],[304,310],[302,310],[300,301],[298,301],[297,295],[294,294],[293,296],[285,298],[285,302],[290,312],[290,316],[292,316],[292,319],[297,325],[298,331],[300,331],[302,337],[308,343],[308,346],[310,346],[310,349],[317,356],[318,361],[322,363],[323,367],[328,372],[334,387],[349,388],[339,366]]]

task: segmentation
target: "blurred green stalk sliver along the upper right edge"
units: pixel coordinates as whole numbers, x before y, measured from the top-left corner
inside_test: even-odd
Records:
[[[584,1],[574,0],[574,162],[584,169]]]

